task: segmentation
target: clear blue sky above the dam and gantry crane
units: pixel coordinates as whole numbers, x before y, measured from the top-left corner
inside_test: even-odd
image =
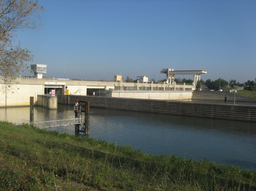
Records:
[[[18,32],[47,77],[164,79],[163,68],[201,78],[256,78],[255,0],[38,0],[44,27]],[[84,71],[83,71],[84,70]],[[29,75],[29,72],[22,73]],[[192,75],[176,75],[192,79]]]

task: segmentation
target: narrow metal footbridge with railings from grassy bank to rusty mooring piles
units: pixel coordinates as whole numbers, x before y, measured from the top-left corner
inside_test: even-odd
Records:
[[[57,126],[75,125],[75,124],[81,124],[81,123],[84,123],[84,118],[61,119],[61,120],[42,121],[42,122],[34,122],[34,123],[27,123],[27,124],[34,125],[39,129],[42,129],[42,128],[57,127]],[[14,124],[14,125],[24,125],[24,124]]]

